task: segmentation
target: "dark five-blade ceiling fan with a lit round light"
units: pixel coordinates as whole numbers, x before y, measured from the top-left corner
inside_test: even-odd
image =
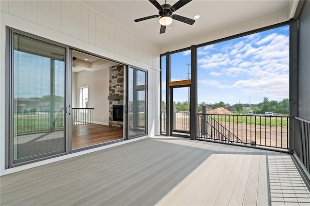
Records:
[[[161,24],[160,31],[159,31],[160,34],[165,33],[166,26],[171,25],[172,19],[175,19],[177,21],[182,21],[189,25],[193,25],[195,23],[195,20],[193,19],[180,16],[180,15],[172,15],[173,12],[180,9],[182,6],[184,6],[185,4],[189,3],[192,0],[179,0],[175,4],[173,4],[173,6],[171,6],[170,4],[167,4],[167,0],[165,1],[165,4],[163,5],[160,5],[157,0],[149,0],[149,1],[158,9],[159,15],[152,15],[152,16],[146,16],[143,18],[138,18],[134,20],[135,22],[147,20],[150,18],[158,18],[160,16],[160,19],[159,19],[159,23]]]

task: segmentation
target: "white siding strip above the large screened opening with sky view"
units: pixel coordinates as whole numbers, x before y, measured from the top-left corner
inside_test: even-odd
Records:
[[[287,10],[273,13],[270,15],[265,15],[259,18],[255,18],[255,19],[242,22],[240,24],[218,29],[215,31],[204,33],[199,36],[195,36],[192,38],[182,40],[180,42],[169,44],[167,46],[161,47],[160,53],[164,54],[168,51],[175,51],[178,49],[189,47],[191,45],[198,45],[198,44],[203,44],[207,42],[212,42],[214,40],[222,39],[225,37],[233,36],[236,34],[247,32],[247,31],[260,29],[263,27],[267,27],[267,26],[271,26],[274,24],[288,21],[289,18],[290,18],[290,15],[289,15],[289,11]]]

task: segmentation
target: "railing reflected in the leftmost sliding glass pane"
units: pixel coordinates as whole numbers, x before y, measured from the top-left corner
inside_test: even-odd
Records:
[[[64,112],[16,112],[14,113],[14,133],[42,132],[64,128]]]

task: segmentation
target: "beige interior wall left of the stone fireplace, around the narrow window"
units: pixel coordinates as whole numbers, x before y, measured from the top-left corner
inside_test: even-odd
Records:
[[[79,88],[86,85],[88,85],[89,108],[94,108],[93,123],[109,125],[109,68],[97,72],[77,73],[77,107],[79,107]]]

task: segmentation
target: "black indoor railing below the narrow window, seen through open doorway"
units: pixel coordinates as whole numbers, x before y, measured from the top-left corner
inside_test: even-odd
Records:
[[[94,108],[72,108],[72,125],[92,124]]]

